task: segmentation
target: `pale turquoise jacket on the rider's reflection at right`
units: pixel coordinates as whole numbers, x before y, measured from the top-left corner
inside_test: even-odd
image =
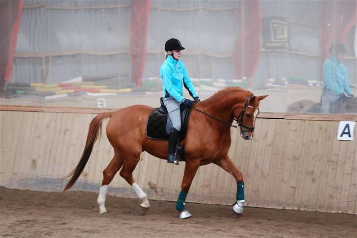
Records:
[[[336,94],[352,93],[347,80],[347,71],[344,65],[336,58],[330,57],[322,66],[324,88]]]

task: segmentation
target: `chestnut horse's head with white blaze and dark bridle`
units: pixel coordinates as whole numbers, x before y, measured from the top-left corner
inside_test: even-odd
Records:
[[[255,118],[259,113],[259,101],[267,97],[250,94],[245,102],[238,103],[233,108],[233,116],[238,123],[240,135],[245,140],[253,139]]]

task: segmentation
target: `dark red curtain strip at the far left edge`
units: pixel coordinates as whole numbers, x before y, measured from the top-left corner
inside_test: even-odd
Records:
[[[0,94],[5,82],[11,80],[17,34],[23,0],[0,1]]]

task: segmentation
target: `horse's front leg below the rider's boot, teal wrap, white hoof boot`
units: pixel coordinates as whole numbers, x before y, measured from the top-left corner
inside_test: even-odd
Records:
[[[181,192],[178,195],[178,200],[176,203],[176,210],[178,210],[180,219],[192,216],[188,211],[185,210],[185,200],[188,190],[190,190],[192,180],[195,177],[200,164],[201,162],[199,159],[186,161],[185,172],[183,173],[181,183]]]

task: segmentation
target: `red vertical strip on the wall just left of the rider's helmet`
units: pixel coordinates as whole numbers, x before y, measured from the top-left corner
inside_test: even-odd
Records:
[[[131,81],[141,86],[149,28],[150,0],[132,0],[130,6]]]

